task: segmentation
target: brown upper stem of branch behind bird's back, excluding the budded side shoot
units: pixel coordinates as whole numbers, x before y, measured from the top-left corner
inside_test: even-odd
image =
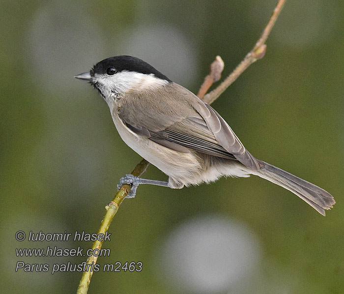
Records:
[[[265,26],[255,47],[245,56],[244,60],[229,74],[229,76],[213,91],[204,96],[203,101],[211,104],[214,102],[251,64],[264,57],[266,51],[266,39],[268,38],[272,27],[275,25],[278,16],[281,13],[286,0],[279,0],[269,22]]]

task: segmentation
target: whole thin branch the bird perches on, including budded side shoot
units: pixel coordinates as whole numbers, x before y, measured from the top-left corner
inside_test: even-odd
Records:
[[[204,102],[211,104],[214,102],[228,87],[231,85],[241,73],[243,73],[251,64],[253,64],[258,59],[262,58],[265,54],[266,45],[265,41],[269,36],[272,27],[274,26],[277,17],[279,16],[282,7],[286,0],[279,0],[277,6],[270,17],[268,24],[265,26],[263,33],[261,34],[256,46],[246,55],[244,60],[236,67],[236,69],[229,74],[229,76],[213,91],[206,94],[208,89],[214,82],[217,82],[221,78],[221,73],[224,69],[224,62],[220,56],[216,56],[215,61],[210,66],[210,73],[205,77],[203,84],[201,85],[198,97]],[[149,162],[143,159],[131,172],[132,175],[141,176],[143,172],[147,169]],[[122,203],[123,199],[130,192],[131,187],[129,185],[122,185],[115,195],[115,198],[106,206],[107,212],[104,216],[102,224],[99,228],[98,234],[105,234],[109,229],[109,226],[118,211],[119,205]],[[103,245],[103,241],[95,241],[93,243],[92,249],[100,249]],[[87,258],[87,265],[91,265],[92,262],[95,265],[97,262],[97,256],[90,256]],[[86,268],[87,269],[87,268]],[[88,286],[91,281],[93,271],[86,270],[80,280],[77,294],[86,294],[88,291]]]

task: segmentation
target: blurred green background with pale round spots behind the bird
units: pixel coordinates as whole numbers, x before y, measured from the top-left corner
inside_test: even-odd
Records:
[[[114,55],[135,55],[198,91],[216,55],[223,76],[252,49],[276,0],[1,2],[1,293],[75,293],[81,272],[15,272],[23,230],[98,230],[118,179],[140,157],[108,106],[73,78]],[[96,272],[89,293],[344,293],[344,6],[289,0],[251,66],[213,107],[256,157],[328,190],[324,218],[258,177],[172,190],[140,186],[109,229],[109,257],[141,272]],[[166,179],[150,166],[145,177]]]

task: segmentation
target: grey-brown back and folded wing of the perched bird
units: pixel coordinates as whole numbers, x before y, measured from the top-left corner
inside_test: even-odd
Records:
[[[166,102],[166,91],[132,94],[120,99],[118,116],[130,130],[162,146],[238,160],[259,169],[256,159],[211,106],[175,83],[164,90],[171,91],[170,97],[181,92],[175,104]]]

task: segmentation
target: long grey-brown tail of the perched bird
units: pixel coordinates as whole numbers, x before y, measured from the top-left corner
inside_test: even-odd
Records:
[[[325,209],[332,208],[336,203],[331,194],[324,189],[264,161],[258,160],[258,163],[260,170],[254,174],[291,191],[323,216]]]

